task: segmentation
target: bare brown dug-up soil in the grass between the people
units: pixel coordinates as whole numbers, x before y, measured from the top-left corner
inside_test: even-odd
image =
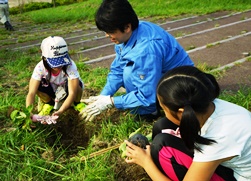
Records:
[[[91,89],[84,91],[83,97],[95,95],[96,92]],[[93,122],[85,123],[78,116],[78,112],[73,108],[68,109],[58,121],[57,124],[51,125],[50,136],[47,138],[47,142],[50,145],[56,145],[66,150],[68,157],[76,155],[79,151],[79,147],[86,148],[89,144],[90,138],[101,128],[101,122],[104,117],[110,117],[110,120],[114,124],[119,123],[121,111],[117,109],[110,109],[105,113],[98,115]],[[47,126],[47,125],[45,125]],[[60,138],[58,140],[58,137]],[[101,150],[111,146],[113,143],[106,143],[102,141],[94,142],[93,150]],[[116,144],[116,143],[114,143]],[[46,158],[52,158],[50,153],[45,153]],[[109,157],[110,163],[115,164],[114,173],[116,174],[117,181],[150,181],[150,177],[147,175],[145,170],[136,164],[127,164],[123,158],[120,157],[118,150],[112,151]]]

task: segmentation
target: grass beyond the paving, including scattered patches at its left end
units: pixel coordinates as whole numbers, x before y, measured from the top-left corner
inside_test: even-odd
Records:
[[[75,29],[87,29],[90,25],[94,26],[94,14],[97,7],[102,0],[87,0],[80,3],[74,3],[70,5],[62,5],[57,7],[45,8],[41,10],[34,10],[30,12],[24,12],[21,14],[13,15],[12,19],[16,22],[36,24],[36,28],[39,30],[40,26],[43,25],[55,29],[58,35],[65,34],[69,27]],[[244,11],[251,8],[251,3],[248,0],[236,3],[235,0],[221,1],[221,0],[210,0],[210,1],[193,1],[193,0],[159,0],[151,1],[146,0],[144,3],[140,0],[131,1],[136,13],[139,17],[152,17],[153,20],[172,18],[176,19],[180,15],[201,15],[216,11]],[[147,9],[147,11],[146,11]],[[64,24],[65,28],[60,31],[57,29],[58,24]],[[27,25],[29,26],[29,25]],[[29,27],[27,27],[29,28]],[[30,27],[32,28],[32,27]],[[0,40],[6,39],[9,34],[1,32]],[[19,32],[17,33],[19,34]],[[14,36],[17,36],[14,35]],[[34,36],[30,37],[25,32],[20,32],[18,35],[19,42],[26,42],[35,39]],[[38,31],[37,37],[43,39],[46,37],[46,32]]]

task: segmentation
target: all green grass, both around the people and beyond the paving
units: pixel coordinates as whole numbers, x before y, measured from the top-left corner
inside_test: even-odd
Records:
[[[35,10],[11,18],[21,23],[29,22],[39,30],[41,27],[50,27],[57,30],[58,24],[65,28],[58,30],[58,35],[65,34],[69,27],[72,29],[87,29],[88,25],[94,25],[94,13],[101,0],[88,0],[76,4]],[[131,0],[135,11],[140,17],[151,17],[153,19],[178,18],[180,15],[198,15],[215,11],[231,10],[244,11],[251,8],[250,0]],[[7,39],[10,34],[0,30],[1,40]],[[42,39],[48,32],[42,31],[30,36],[25,32],[17,32],[12,35],[18,42]],[[50,33],[50,32],[49,32]],[[192,47],[191,47],[192,48]],[[23,109],[25,96],[28,91],[28,82],[31,72],[40,59],[38,47],[29,51],[13,51],[0,49],[0,178],[9,180],[116,180],[114,172],[116,159],[112,160],[111,152],[95,157],[85,162],[71,161],[75,156],[80,158],[94,151],[95,142],[103,141],[110,143],[121,143],[128,137],[129,133],[139,127],[143,127],[145,133],[151,131],[151,126],[135,123],[129,115],[122,114],[119,123],[114,124],[109,117],[101,123],[101,129],[92,136],[89,145],[79,147],[77,153],[72,155],[68,150],[61,147],[61,134],[56,134],[56,141],[51,145],[47,138],[51,129],[38,125],[33,132],[25,131],[16,127],[8,116],[9,107]],[[77,62],[80,75],[88,87],[99,92],[106,82],[108,69],[92,69],[86,64]],[[210,71],[215,67],[200,64],[199,67]],[[214,72],[220,76],[221,72]],[[231,101],[238,105],[251,109],[251,90],[248,87],[241,88],[237,93],[224,91],[220,95],[222,99]],[[93,125],[95,126],[95,125]],[[53,154],[52,154],[53,153]],[[117,154],[120,154],[117,152]],[[112,161],[111,161],[112,160]]]

